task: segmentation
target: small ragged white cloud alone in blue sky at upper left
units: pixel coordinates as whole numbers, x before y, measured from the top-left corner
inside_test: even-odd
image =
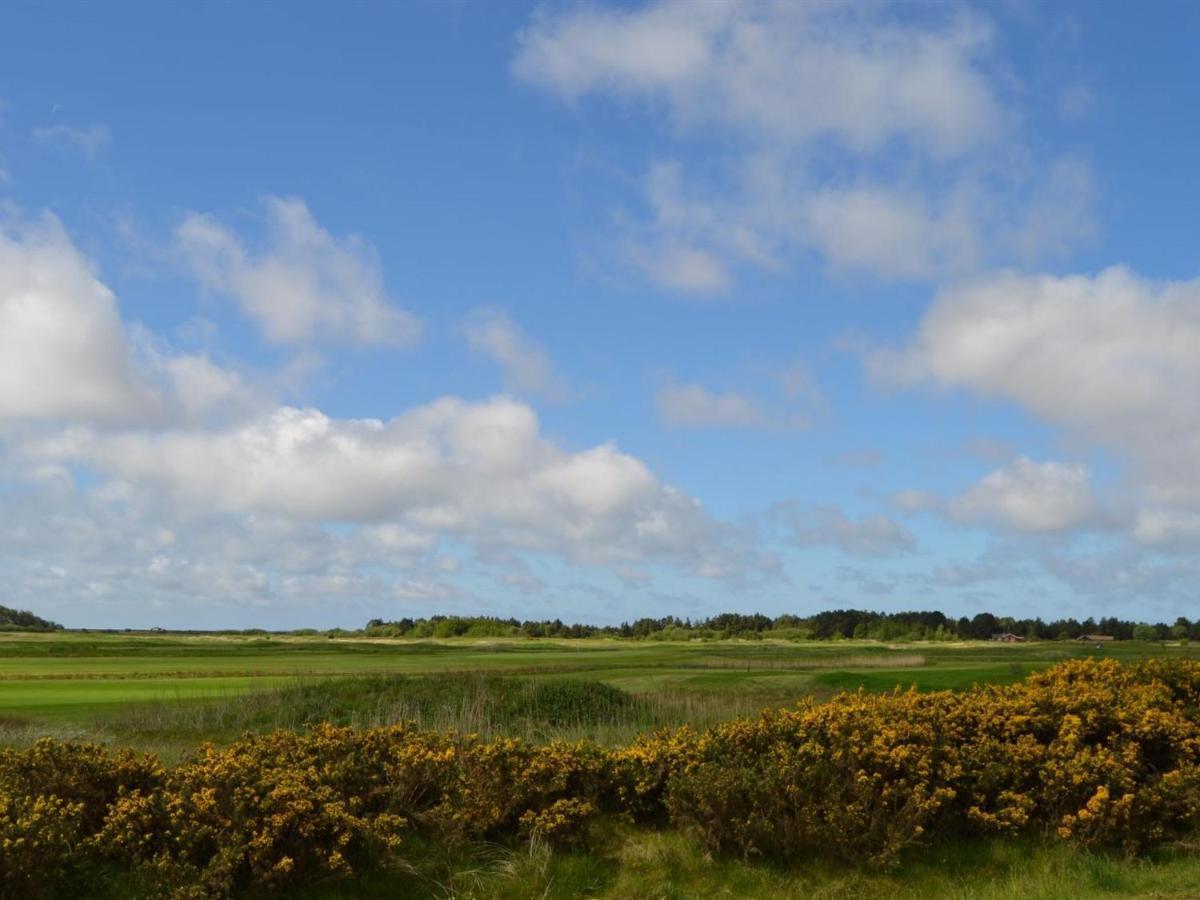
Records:
[[[265,210],[269,241],[260,252],[208,215],[184,220],[175,241],[196,276],[233,295],[266,340],[358,346],[418,340],[420,323],[388,296],[370,244],[335,238],[296,198],[268,198]]]

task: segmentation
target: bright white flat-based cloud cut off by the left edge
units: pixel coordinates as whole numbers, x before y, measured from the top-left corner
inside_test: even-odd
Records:
[[[58,220],[0,223],[0,420],[119,422],[160,412],[113,293]]]

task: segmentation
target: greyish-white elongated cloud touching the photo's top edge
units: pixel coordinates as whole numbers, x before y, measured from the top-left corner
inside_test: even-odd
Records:
[[[828,136],[860,152],[900,137],[955,155],[998,127],[978,66],[989,43],[962,14],[923,29],[851,4],[660,0],[540,13],[514,71],[568,98],[661,101],[684,127],[793,146]]]

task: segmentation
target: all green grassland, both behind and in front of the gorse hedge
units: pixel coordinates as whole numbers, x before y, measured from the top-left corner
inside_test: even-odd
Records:
[[[458,732],[529,745],[628,748],[862,688],[965,691],[1072,659],[1196,660],[1175,643],[384,640],[163,634],[0,635],[0,745],[50,736],[149,751],[168,764],[203,742],[316,722]],[[661,732],[660,732],[661,733]],[[482,833],[481,833],[482,834]],[[726,852],[694,829],[607,817],[586,845],[536,834],[432,841],[398,869],[295,886],[298,896],[1196,896],[1188,840],[1135,857],[1030,833],[917,842],[887,866]],[[412,860],[409,854],[407,859]],[[114,896],[139,895],[106,876]],[[106,888],[108,889],[108,888]],[[253,893],[253,892],[251,892]],[[96,895],[101,895],[97,888]]]

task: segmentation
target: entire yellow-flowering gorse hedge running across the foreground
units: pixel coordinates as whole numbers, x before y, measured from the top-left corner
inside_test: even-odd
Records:
[[[44,739],[0,751],[0,895],[70,894],[106,868],[148,894],[284,892],[402,865],[414,839],[575,844],[596,816],[744,857],[888,865],[922,841],[1030,832],[1138,852],[1200,824],[1200,664],[844,694],[618,749],[319,725],[167,768]]]

